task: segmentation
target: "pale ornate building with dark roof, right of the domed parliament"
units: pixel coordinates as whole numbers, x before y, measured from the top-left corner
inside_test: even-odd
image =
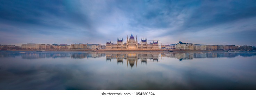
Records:
[[[181,41],[175,44],[176,50],[194,50],[194,46],[192,43],[182,43]]]

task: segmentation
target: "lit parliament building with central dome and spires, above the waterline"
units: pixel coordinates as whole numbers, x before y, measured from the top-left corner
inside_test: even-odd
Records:
[[[140,40],[140,43],[138,43],[138,39],[136,36],[136,40],[134,39],[134,37],[131,35],[130,38],[128,39],[127,36],[127,41],[126,43],[123,42],[123,38],[119,39],[117,38],[117,43],[114,44],[113,42],[107,42],[106,43],[106,49],[107,50],[122,50],[122,49],[141,49],[141,50],[145,50],[145,49],[159,49],[158,47],[158,41],[153,43],[147,43],[147,38]]]

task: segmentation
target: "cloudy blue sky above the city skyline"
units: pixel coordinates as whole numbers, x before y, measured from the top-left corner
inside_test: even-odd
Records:
[[[0,0],[0,44],[106,44],[131,33],[255,46],[256,0]]]

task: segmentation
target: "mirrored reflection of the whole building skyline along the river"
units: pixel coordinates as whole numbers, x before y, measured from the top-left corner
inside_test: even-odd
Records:
[[[0,52],[0,58],[22,56],[22,59],[38,58],[100,58],[106,56],[106,60],[117,59],[118,63],[123,63],[123,59],[128,59],[130,65],[138,62],[147,63],[147,59],[158,61],[159,57],[175,58],[180,61],[191,60],[193,58],[234,58],[236,56],[249,57],[256,55],[256,52],[171,52],[171,53],[151,53],[151,52]],[[131,62],[130,62],[131,61]]]

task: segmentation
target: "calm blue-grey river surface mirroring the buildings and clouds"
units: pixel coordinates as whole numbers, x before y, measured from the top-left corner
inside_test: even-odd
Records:
[[[1,90],[256,90],[256,52],[0,51]]]

